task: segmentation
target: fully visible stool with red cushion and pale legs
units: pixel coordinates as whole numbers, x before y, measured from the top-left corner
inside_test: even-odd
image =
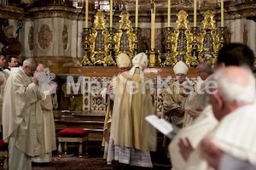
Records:
[[[59,156],[62,155],[62,146],[61,143],[64,142],[64,151],[67,155],[67,142],[70,143],[79,143],[79,157],[83,156],[83,144],[85,145],[85,150],[88,149],[88,131],[85,131],[82,128],[65,128],[57,133],[58,136],[58,152]]]

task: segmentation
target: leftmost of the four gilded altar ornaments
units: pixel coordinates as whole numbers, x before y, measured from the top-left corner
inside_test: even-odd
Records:
[[[105,25],[105,14],[102,10],[99,10],[95,15],[94,27],[91,28],[89,36],[92,65],[115,65],[112,56],[109,54],[108,46],[111,37]]]

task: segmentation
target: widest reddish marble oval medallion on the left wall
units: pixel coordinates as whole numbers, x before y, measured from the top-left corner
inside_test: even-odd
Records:
[[[38,44],[41,48],[46,49],[49,47],[49,43],[52,42],[53,33],[50,31],[49,26],[41,26],[38,32]]]

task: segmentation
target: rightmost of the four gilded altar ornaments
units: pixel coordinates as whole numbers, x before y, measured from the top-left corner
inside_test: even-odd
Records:
[[[197,36],[199,55],[201,62],[209,62],[213,64],[217,59],[218,49],[220,48],[218,28],[214,26],[214,14],[211,10],[207,10],[202,20],[203,27]]]

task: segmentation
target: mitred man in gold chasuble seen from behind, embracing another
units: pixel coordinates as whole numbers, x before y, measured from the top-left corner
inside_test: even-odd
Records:
[[[130,71],[116,79],[113,117],[110,130],[108,164],[131,169],[153,167],[150,151],[156,151],[156,130],[145,117],[154,115],[150,82],[143,74],[148,56],[137,54]]]

